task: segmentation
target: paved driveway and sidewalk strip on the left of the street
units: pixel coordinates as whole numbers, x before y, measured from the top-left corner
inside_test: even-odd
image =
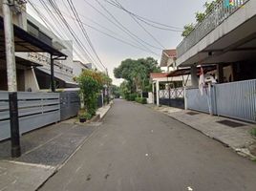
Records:
[[[105,116],[110,107],[98,114]],[[11,159],[11,141],[0,142],[0,191],[33,191],[48,180],[99,128],[100,122],[62,121],[21,137],[22,156]]]

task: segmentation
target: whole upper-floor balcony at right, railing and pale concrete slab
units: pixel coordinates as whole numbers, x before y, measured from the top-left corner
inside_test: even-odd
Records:
[[[234,0],[234,4],[230,6],[226,6],[224,0],[217,1],[203,22],[199,23],[177,47],[177,65],[189,66],[203,62],[209,55],[212,56],[214,51],[222,52],[227,47],[234,47],[236,40],[240,42],[235,48],[252,40],[250,38],[242,43],[240,37],[234,36],[239,34],[247,38],[254,33],[255,10],[254,0]],[[231,44],[232,42],[234,43]]]

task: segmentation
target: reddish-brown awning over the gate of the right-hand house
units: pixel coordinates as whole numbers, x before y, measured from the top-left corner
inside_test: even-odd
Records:
[[[203,73],[206,74],[208,72],[214,71],[216,70],[216,65],[208,65],[208,66],[202,66],[203,68]],[[200,74],[200,70],[201,67],[197,67],[197,74]],[[190,67],[186,67],[186,68],[181,68],[175,71],[170,72],[169,74],[167,74],[167,77],[174,77],[174,76],[180,76],[180,75],[187,75],[190,74]]]

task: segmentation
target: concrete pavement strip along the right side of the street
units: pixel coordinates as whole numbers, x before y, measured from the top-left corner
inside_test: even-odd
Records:
[[[157,107],[155,105],[148,106],[169,117],[173,117],[182,123],[185,123],[186,125],[202,132],[209,138],[221,141],[224,145],[232,148],[235,152],[246,158],[256,159],[256,139],[250,135],[250,129],[255,127],[255,124],[226,117],[210,116],[208,114],[195,111],[185,111],[173,107]],[[223,120],[233,121],[241,124],[241,126],[230,127],[219,123],[219,121]]]

